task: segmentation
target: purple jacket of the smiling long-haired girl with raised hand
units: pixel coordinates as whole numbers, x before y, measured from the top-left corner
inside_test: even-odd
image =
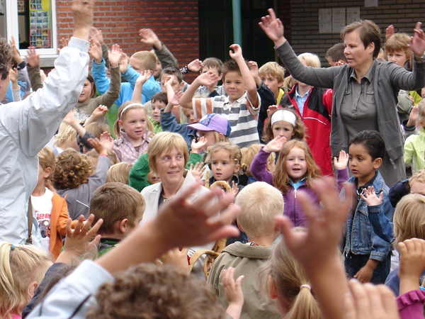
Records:
[[[260,151],[255,155],[254,160],[251,163],[251,174],[257,181],[265,181],[267,184],[273,185],[273,174],[268,172],[266,169],[267,157],[270,155],[269,152],[265,152],[263,147],[261,147]],[[276,167],[279,169],[279,167]],[[344,181],[348,179],[348,171],[346,169],[338,170],[338,185],[342,185]],[[292,184],[289,184],[289,190],[283,194],[283,201],[285,206],[283,208],[283,215],[288,216],[290,220],[292,220],[295,227],[302,226],[307,227],[307,218],[304,213],[301,211],[301,207],[297,202],[297,191],[305,191],[312,198],[312,202],[317,204],[319,207],[319,198],[317,198],[317,194],[314,193],[310,186],[306,184],[302,184],[298,189],[294,189]]]

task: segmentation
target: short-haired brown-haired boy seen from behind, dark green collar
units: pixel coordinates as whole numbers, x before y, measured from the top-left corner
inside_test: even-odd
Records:
[[[94,191],[90,201],[90,213],[94,223],[103,219],[98,235],[98,256],[108,252],[127,237],[142,220],[146,202],[142,194],[118,181],[106,183]]]

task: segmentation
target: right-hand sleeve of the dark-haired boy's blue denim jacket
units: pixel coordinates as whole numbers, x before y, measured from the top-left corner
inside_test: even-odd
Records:
[[[380,205],[369,206],[368,215],[373,213],[378,213],[379,215],[383,215],[385,216],[385,218],[387,218],[387,220],[389,216],[391,216],[392,218],[392,213],[394,213],[394,208],[392,208],[390,204],[390,201],[388,199],[388,194],[384,195],[384,199],[382,203],[380,203]],[[392,234],[392,230],[390,230],[390,223],[385,223],[385,225],[382,225],[382,226],[385,227],[385,231],[387,232],[387,235],[388,233]],[[383,230],[384,229],[382,228],[382,233],[383,233]],[[372,232],[371,240],[372,240],[372,251],[370,252],[370,259],[375,259],[382,262],[382,260],[384,260],[385,257],[387,257],[387,255],[390,253],[391,244],[390,242],[383,240],[374,231]]]

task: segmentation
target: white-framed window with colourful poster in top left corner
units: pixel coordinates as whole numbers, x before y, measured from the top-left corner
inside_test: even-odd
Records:
[[[0,33],[8,39],[13,35],[23,56],[34,46],[41,58],[56,57],[55,0],[0,0]]]

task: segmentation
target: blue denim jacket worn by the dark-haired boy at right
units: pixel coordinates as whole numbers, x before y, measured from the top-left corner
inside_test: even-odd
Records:
[[[370,259],[382,262],[390,252],[391,245],[373,232],[368,215],[369,213],[382,212],[388,220],[392,220],[394,208],[391,206],[390,199],[388,198],[388,186],[385,185],[380,172],[377,171],[376,174],[373,187],[375,187],[376,194],[380,194],[383,191],[384,198],[382,203],[377,206],[368,206],[363,199],[358,201],[356,210],[348,216],[346,223],[346,246],[344,253],[370,254]],[[354,177],[348,179],[347,183],[353,184]],[[342,189],[341,195],[344,195],[344,189]]]

